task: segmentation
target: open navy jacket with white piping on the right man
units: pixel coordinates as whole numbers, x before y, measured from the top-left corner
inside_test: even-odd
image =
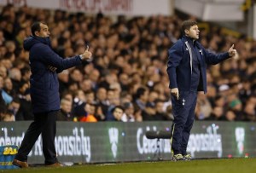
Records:
[[[183,36],[177,40],[171,49],[168,50],[167,73],[170,80],[169,88],[177,88],[180,91],[189,91],[191,86],[192,63],[190,61],[189,48],[186,42],[191,42],[191,38]],[[215,65],[230,58],[229,53],[212,54],[204,49],[201,43],[195,41],[197,54],[200,56],[201,81],[199,91],[207,93],[207,65]]]

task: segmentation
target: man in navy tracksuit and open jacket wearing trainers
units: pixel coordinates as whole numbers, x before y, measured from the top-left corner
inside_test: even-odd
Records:
[[[187,153],[189,134],[195,119],[197,91],[207,92],[207,64],[218,64],[232,56],[236,57],[234,45],[228,52],[214,55],[204,49],[199,29],[194,20],[185,20],[183,37],[168,50],[167,72],[172,94],[172,160],[189,160]]]

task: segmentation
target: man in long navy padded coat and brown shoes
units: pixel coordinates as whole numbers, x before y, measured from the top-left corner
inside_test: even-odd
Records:
[[[32,72],[30,93],[34,121],[26,130],[13,164],[20,168],[28,167],[27,155],[42,134],[44,164],[61,166],[55,151],[56,115],[60,110],[57,72],[81,65],[82,61],[91,61],[91,53],[87,48],[83,55],[63,59],[51,49],[47,25],[35,22],[31,29],[32,36],[24,41],[24,49],[29,51]]]

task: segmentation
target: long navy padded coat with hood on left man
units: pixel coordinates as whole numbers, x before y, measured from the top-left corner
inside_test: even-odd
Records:
[[[51,49],[49,37],[27,37],[23,46],[29,51],[32,72],[30,77],[32,111],[38,113],[60,110],[57,72],[82,64],[79,55],[67,59],[61,58]],[[54,66],[57,70],[51,72],[49,66]]]

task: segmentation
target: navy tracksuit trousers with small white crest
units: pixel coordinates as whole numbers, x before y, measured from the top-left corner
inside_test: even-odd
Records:
[[[172,96],[172,153],[187,154],[187,146],[189,142],[190,130],[195,120],[195,106],[197,100],[197,92],[188,91],[179,93],[179,100]]]

